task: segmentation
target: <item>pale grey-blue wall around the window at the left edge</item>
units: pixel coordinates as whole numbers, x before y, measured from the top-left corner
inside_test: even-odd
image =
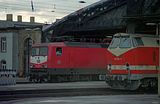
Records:
[[[6,52],[1,52],[0,50],[0,61],[6,61],[6,69],[13,69],[13,34],[12,32],[0,32],[0,39],[1,37],[6,37]]]

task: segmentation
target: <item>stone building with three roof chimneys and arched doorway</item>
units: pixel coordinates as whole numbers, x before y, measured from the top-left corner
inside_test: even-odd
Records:
[[[15,69],[18,76],[27,76],[29,72],[30,47],[41,42],[41,23],[22,22],[22,16],[7,14],[6,20],[0,20],[0,69]]]

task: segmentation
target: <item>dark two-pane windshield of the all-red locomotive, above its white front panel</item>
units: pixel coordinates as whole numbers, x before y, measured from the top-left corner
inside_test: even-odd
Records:
[[[36,55],[47,55],[48,53],[48,49],[47,47],[36,47],[36,48],[32,48],[32,56],[36,56]]]

